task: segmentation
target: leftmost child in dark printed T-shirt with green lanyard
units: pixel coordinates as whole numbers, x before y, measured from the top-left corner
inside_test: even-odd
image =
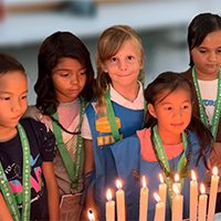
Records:
[[[27,93],[23,66],[0,54],[0,218],[59,220],[55,139],[43,124],[21,119]]]

